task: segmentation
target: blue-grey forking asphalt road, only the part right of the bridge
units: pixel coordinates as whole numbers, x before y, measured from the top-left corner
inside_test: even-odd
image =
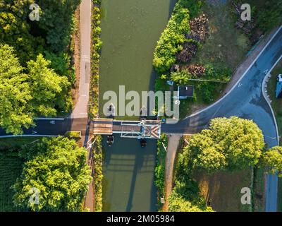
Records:
[[[161,127],[162,131],[165,133],[197,133],[207,128],[211,119],[238,116],[255,121],[262,129],[264,140],[269,147],[278,145],[275,119],[262,94],[262,81],[281,55],[282,29],[230,93],[211,107],[179,121],[178,124],[164,124]],[[277,176],[267,175],[266,211],[276,211],[277,209],[277,186]]]

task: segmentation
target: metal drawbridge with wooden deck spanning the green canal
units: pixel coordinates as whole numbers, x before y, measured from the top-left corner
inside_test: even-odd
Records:
[[[114,119],[94,119],[94,134],[121,134],[122,138],[159,139],[161,137],[161,121],[118,121]]]

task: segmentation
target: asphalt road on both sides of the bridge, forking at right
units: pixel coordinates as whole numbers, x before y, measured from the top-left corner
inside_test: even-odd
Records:
[[[280,28],[269,44],[262,50],[257,59],[245,72],[241,80],[221,100],[207,109],[179,121],[178,124],[163,124],[165,133],[197,133],[209,125],[215,117],[238,116],[252,119],[264,133],[264,139],[269,147],[278,145],[276,121],[269,104],[262,95],[262,81],[266,73],[276,64],[282,55],[282,29]],[[58,136],[68,130],[80,130],[85,135],[87,118],[75,119],[37,119],[34,129],[24,130],[24,136]],[[0,136],[11,136],[0,129]],[[268,175],[266,179],[266,211],[277,209],[276,175]]]

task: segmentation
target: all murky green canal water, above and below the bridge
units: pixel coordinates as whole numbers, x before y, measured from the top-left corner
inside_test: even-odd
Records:
[[[106,91],[118,95],[119,85],[125,85],[125,92],[154,90],[153,52],[174,4],[175,0],[102,0],[100,117]],[[139,141],[118,136],[111,148],[104,143],[104,211],[157,210],[156,149],[156,141],[141,148]]]

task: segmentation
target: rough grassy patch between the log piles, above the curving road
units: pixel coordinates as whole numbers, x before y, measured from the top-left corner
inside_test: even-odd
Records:
[[[205,4],[203,11],[209,18],[209,35],[194,63],[228,66],[232,70],[244,59],[250,47],[248,38],[234,26],[229,4]]]

